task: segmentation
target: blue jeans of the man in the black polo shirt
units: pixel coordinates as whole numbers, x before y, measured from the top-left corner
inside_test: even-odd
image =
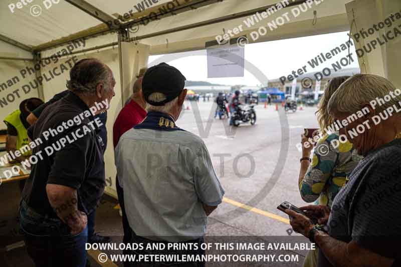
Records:
[[[85,267],[88,227],[72,235],[63,221],[35,212],[24,200],[20,204],[20,223],[28,254],[36,266]]]

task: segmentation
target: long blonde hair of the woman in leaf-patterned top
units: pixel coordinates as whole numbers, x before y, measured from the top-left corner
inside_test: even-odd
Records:
[[[329,112],[327,111],[327,105],[331,96],[334,92],[340,87],[340,85],[345,82],[349,76],[341,76],[335,77],[331,79],[327,85],[327,88],[324,90],[324,95],[320,99],[318,109],[316,111],[317,115],[317,122],[319,123],[320,131],[324,135],[326,134],[327,126],[333,123],[333,117],[330,116]]]

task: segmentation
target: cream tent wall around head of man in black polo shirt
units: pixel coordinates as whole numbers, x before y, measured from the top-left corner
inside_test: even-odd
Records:
[[[119,64],[119,55],[118,55],[118,49],[106,49],[106,50],[101,50],[99,52],[93,51],[93,53],[86,53],[85,55],[80,54],[80,55],[75,55],[77,57],[77,60],[81,60],[84,58],[96,58],[100,60],[101,62],[105,63],[107,66],[110,67],[110,69],[113,71],[114,74],[114,79],[116,80],[116,86],[114,88],[115,91],[115,96],[113,97],[111,103],[110,103],[110,108],[107,111],[107,148],[106,152],[104,154],[104,161],[105,161],[105,166],[106,166],[106,179],[108,181],[113,181],[113,182],[108,182],[106,183],[106,189],[105,191],[109,194],[115,195],[115,184],[114,184],[114,179],[116,176],[116,170],[114,166],[114,148],[113,148],[113,124],[114,120],[118,115],[118,112],[121,110],[121,81],[120,81],[120,64]],[[62,58],[61,61],[65,61],[66,58]],[[43,69],[43,72],[46,73],[50,71],[51,69],[60,66],[60,63],[55,63],[48,65],[45,69]],[[68,66],[68,64],[67,64]],[[64,72],[62,75],[58,76],[55,79],[52,79],[51,81],[44,83],[43,90],[45,93],[45,99],[49,100],[51,97],[53,97],[55,94],[66,90],[66,81],[69,80],[69,71]]]

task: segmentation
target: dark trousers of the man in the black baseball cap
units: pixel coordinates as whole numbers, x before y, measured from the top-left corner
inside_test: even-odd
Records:
[[[196,240],[190,240],[190,241],[185,241],[182,243],[192,243],[192,245],[197,244],[197,249],[193,247],[193,249],[190,250],[177,250],[177,249],[168,249],[168,244],[169,242],[166,241],[153,241],[141,236],[136,235],[135,233],[132,233],[132,238],[130,243],[138,243],[142,244],[143,248],[142,250],[131,250],[129,253],[132,256],[135,256],[135,261],[129,262],[130,267],[172,267],[172,266],[177,266],[177,267],[205,267],[205,262],[199,262],[199,261],[194,261],[194,262],[182,262],[182,261],[165,261],[165,262],[159,262],[159,261],[149,261],[149,259],[146,260],[140,260],[139,255],[140,254],[145,254],[145,255],[155,255],[155,254],[162,254],[162,255],[177,255],[178,257],[181,257],[182,255],[205,255],[205,250],[200,247],[200,244],[204,242],[204,237],[200,237]],[[164,243],[165,244],[165,249],[163,250],[146,250],[147,244],[150,243]],[[171,244],[171,243],[170,243]],[[151,245],[152,246],[152,245]],[[179,259],[178,259],[179,260]],[[125,264],[125,262],[124,262]]]

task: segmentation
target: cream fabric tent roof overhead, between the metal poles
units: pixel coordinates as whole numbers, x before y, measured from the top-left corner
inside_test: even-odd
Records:
[[[120,23],[128,22],[130,19],[143,18],[143,16],[149,14],[150,11],[157,12],[157,10],[165,10],[166,7],[172,6],[171,3],[181,3],[179,7],[176,4],[174,6],[177,10],[177,15],[164,17],[159,20],[148,20],[145,26],[139,25],[138,29],[135,29],[135,31],[133,31],[133,29],[128,29],[130,37],[143,37],[157,32],[162,33],[170,29],[188,27],[188,25],[194,25],[208,20],[219,19],[280,3],[280,0],[225,0],[223,2],[217,0],[159,0],[156,4],[153,4],[154,6],[138,12],[138,5],[141,3],[143,4],[143,2],[133,4],[130,0],[120,0],[118,2],[114,1],[111,5],[108,0],[86,1],[95,8],[116,19],[122,16],[120,18],[124,20],[124,15],[129,15],[126,17],[128,20],[120,21]],[[314,5],[307,12],[301,13],[296,18],[292,18],[291,21],[275,29],[268,35],[261,36],[256,41],[252,41],[251,38],[249,38],[250,42],[263,42],[348,30],[349,25],[346,16],[345,1],[346,0],[338,0],[335,5],[332,5],[330,1],[322,2],[318,6]],[[289,2],[291,3],[291,1]],[[3,25],[7,24],[7,27],[2,27],[0,29],[0,35],[37,49],[49,47],[49,44],[55,43],[54,41],[56,40],[69,40],[71,37],[79,38],[99,33],[99,31],[105,32],[108,30],[105,23],[102,23],[67,1],[60,1],[58,4],[52,4],[51,6],[46,6],[43,3],[42,1],[28,3],[27,6],[22,6],[22,8],[19,9],[17,7],[13,8],[10,2],[2,1],[0,4],[0,18],[2,18]],[[192,3],[195,6],[193,10],[187,8],[189,11],[185,10],[179,13],[181,12],[179,9],[182,9],[183,3],[187,3],[187,5]],[[244,32],[237,35],[237,37],[241,35],[249,36],[251,31],[255,31],[261,26],[266,27],[268,23],[282,14],[286,12],[291,14],[291,10],[289,9],[292,8],[293,7],[282,9],[249,28],[244,26],[244,20],[249,17],[244,17],[222,21],[213,25],[204,25],[193,29],[189,27],[185,28],[187,30],[146,38],[139,42],[150,45],[151,54],[204,49],[206,42],[216,40],[216,36],[223,34],[223,29],[232,30],[239,25],[243,25],[245,28]],[[317,24],[311,27],[314,10],[317,11]],[[37,16],[39,11],[40,16]],[[114,39],[117,40],[117,35],[115,33],[107,35],[112,35]],[[44,44],[47,45],[43,46]],[[2,56],[1,52],[0,56]]]

